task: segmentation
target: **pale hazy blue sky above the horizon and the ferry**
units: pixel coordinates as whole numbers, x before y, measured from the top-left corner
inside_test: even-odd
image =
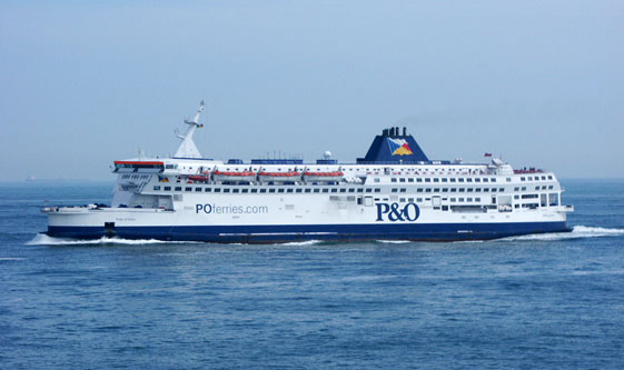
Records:
[[[206,100],[206,158],[432,159],[624,177],[624,1],[0,2],[0,181],[113,180]]]

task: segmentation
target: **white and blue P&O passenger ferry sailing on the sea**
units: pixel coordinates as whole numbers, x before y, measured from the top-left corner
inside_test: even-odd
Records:
[[[555,174],[430,160],[406,128],[375,137],[355,163],[205,159],[194,142],[204,103],[175,156],[115,161],[110,207],[46,207],[51,237],[217,243],[306,240],[485,240],[569,231]]]

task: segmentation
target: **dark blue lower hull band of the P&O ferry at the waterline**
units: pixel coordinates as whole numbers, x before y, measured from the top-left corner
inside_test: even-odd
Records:
[[[565,222],[285,224],[184,227],[48,227],[50,237],[159,239],[206,242],[273,243],[304,240],[484,240],[542,232],[564,232]]]

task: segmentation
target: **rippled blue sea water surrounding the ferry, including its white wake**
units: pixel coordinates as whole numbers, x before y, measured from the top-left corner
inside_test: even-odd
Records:
[[[60,240],[0,184],[0,368],[622,369],[624,180],[567,180],[571,233],[484,242]]]

